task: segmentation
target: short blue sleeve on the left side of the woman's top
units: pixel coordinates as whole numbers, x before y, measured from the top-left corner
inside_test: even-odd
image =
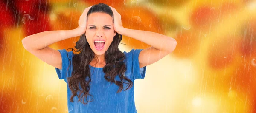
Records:
[[[62,69],[55,68],[59,79],[67,79],[72,72],[72,51],[67,52],[65,49],[58,50],[61,53]]]

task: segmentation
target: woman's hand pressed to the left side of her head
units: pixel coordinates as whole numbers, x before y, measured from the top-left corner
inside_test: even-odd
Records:
[[[79,31],[79,34],[84,34],[86,32],[86,27],[87,27],[87,13],[89,11],[89,9],[92,6],[85,8],[84,12],[81,14],[80,18],[79,18],[79,26],[76,28]]]

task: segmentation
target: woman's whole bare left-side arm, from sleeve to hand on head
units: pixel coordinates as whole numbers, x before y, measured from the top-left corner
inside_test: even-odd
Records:
[[[90,8],[91,6],[86,8],[80,16],[78,28],[72,30],[44,31],[27,36],[22,40],[24,48],[47,64],[62,69],[61,53],[58,50],[48,47],[48,45],[84,34],[86,31],[87,13]]]

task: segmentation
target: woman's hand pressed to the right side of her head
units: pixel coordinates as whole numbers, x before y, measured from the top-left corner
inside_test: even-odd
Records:
[[[116,11],[115,8],[112,8],[111,6],[109,6],[112,9],[112,12],[114,14],[114,30],[120,34],[120,32],[122,31],[122,29],[124,28],[122,26],[122,20],[121,20],[121,15]]]

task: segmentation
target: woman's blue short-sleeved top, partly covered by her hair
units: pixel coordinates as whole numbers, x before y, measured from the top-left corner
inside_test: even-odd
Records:
[[[73,51],[67,52],[65,49],[58,50],[61,53],[62,58],[62,69],[56,69],[59,79],[64,79],[67,83],[67,77],[71,76],[72,67],[72,57],[74,56]],[[83,104],[78,101],[78,97],[73,98],[74,102],[70,102],[70,97],[72,92],[67,84],[67,106],[69,113],[137,113],[135,103],[134,103],[134,80],[144,79],[146,66],[140,68],[139,66],[139,54],[142,49],[132,49],[130,52],[125,52],[125,64],[126,71],[125,76],[133,82],[133,86],[124,91],[128,84],[124,84],[124,89],[116,93],[119,89],[114,83],[110,83],[105,80],[103,68],[95,68],[89,65],[91,73],[90,91],[87,100],[92,101],[87,104]],[[67,56],[68,54],[68,56]],[[71,61],[70,68],[69,60]],[[67,70],[68,69],[68,70]],[[67,75],[66,75],[67,73]],[[120,81],[119,76],[116,76],[116,80]],[[128,82],[128,81],[125,81]],[[78,93],[79,94],[79,93]],[[84,102],[87,102],[84,99]]]

